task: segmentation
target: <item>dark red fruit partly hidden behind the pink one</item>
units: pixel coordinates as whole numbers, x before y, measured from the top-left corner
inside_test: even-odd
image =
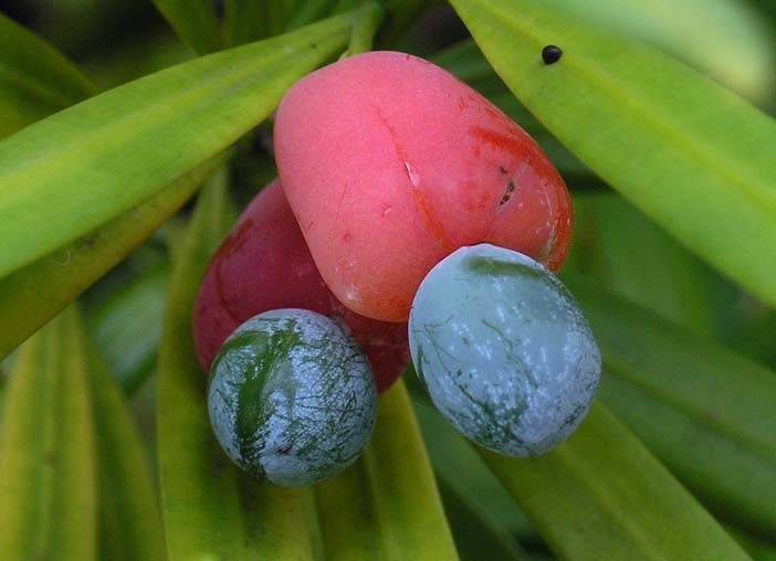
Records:
[[[202,369],[243,321],[277,308],[337,318],[366,352],[378,392],[409,362],[407,325],[376,321],[343,306],[323,282],[279,180],[264,188],[210,262],[195,305],[193,336]]]

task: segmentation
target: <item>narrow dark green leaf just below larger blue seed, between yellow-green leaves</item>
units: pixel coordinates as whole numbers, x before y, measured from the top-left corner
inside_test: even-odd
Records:
[[[516,502],[431,404],[413,399],[413,406],[461,557],[469,551],[476,559],[480,540],[486,539],[489,559],[526,559],[517,540],[535,539],[536,532]]]

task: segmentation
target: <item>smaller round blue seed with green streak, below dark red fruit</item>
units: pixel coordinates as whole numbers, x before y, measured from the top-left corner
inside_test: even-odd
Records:
[[[249,319],[213,360],[210,423],[241,468],[276,485],[322,481],[353,464],[375,426],[369,363],[325,316],[279,309]]]

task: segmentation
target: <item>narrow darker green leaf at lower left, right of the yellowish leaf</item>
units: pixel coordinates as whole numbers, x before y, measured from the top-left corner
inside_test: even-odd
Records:
[[[80,329],[83,332],[83,326]],[[86,342],[86,352],[99,489],[102,559],[162,560],[166,552],[161,517],[140,434],[105,360],[92,341]]]

